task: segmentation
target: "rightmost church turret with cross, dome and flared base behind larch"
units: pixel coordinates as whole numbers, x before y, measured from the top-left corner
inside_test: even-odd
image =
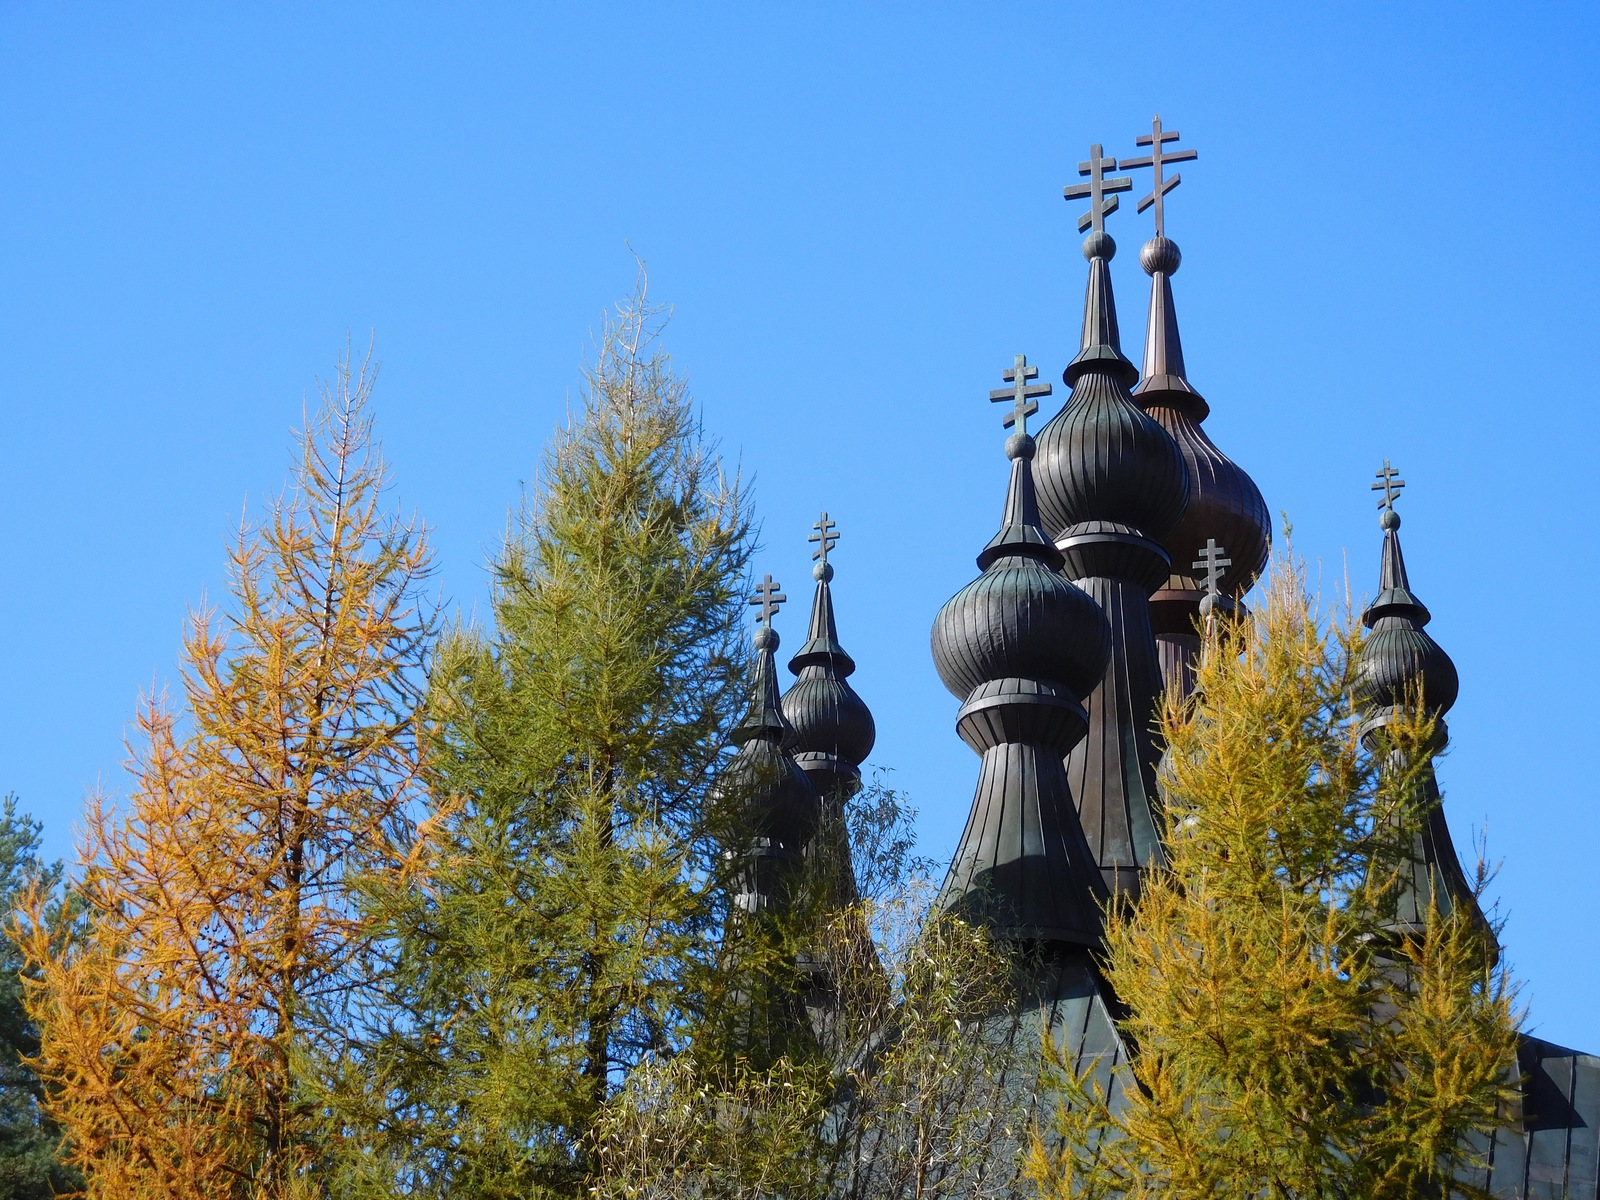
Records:
[[[1378,595],[1362,613],[1368,635],[1357,659],[1357,701],[1368,714],[1363,741],[1374,752],[1398,755],[1387,749],[1382,730],[1403,710],[1421,702],[1424,712],[1434,717],[1434,744],[1427,747],[1414,797],[1414,811],[1397,819],[1411,826],[1410,845],[1402,862],[1402,883],[1395,898],[1395,914],[1390,931],[1395,936],[1419,934],[1427,923],[1429,902],[1440,912],[1464,910],[1483,930],[1493,949],[1493,934],[1478,909],[1472,886],[1461,870],[1450,826],[1445,824],[1443,798],[1434,774],[1434,755],[1448,741],[1445,714],[1456,702],[1459,677],[1450,654],[1424,630],[1430,621],[1427,608],[1411,594],[1406,578],[1405,555],[1400,552],[1400,514],[1395,499],[1405,480],[1384,459],[1373,491],[1381,491],[1378,501],[1379,525],[1384,531],[1384,549],[1379,565]],[[1403,770],[1403,762],[1392,762],[1390,770]]]

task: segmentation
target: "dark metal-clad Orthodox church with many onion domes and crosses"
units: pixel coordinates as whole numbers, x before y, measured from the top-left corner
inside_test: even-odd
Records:
[[[1101,912],[1115,893],[1139,888],[1163,859],[1155,730],[1166,690],[1189,694],[1200,653],[1198,622],[1229,606],[1267,563],[1272,525],[1250,475],[1206,435],[1210,405],[1189,381],[1173,275],[1182,261],[1165,232],[1163,200],[1179,176],[1168,166],[1195,158],[1171,147],[1162,128],[1138,138],[1147,152],[1112,158],[1090,149],[1066,189],[1086,200],[1088,283],[1083,334],[1062,381],[1066,403],[1037,434],[1027,419],[1051,386],[1022,355],[990,394],[1010,405],[1005,442],[1010,478],[1000,530],[978,552],[976,579],[938,611],[933,659],[960,701],[955,731],[979,757],[971,813],[950,856],[936,904],[984,922],[1003,939],[1042,947],[1018,1005],[1024,1021],[1048,1022],[1080,1066],[1102,1062],[1107,1078],[1125,1061],[1115,997],[1096,968]],[[1154,210],[1154,237],[1139,251],[1150,277],[1142,368],[1123,355],[1109,264],[1117,243],[1106,218],[1133,189],[1118,170],[1150,170],[1138,211]],[[1400,550],[1403,486],[1384,462],[1379,482],[1382,546],[1378,590],[1362,614],[1360,704],[1366,736],[1400,706],[1438,718],[1456,701],[1450,656],[1427,634],[1429,610],[1411,590]],[[861,784],[874,742],[867,706],[850,686],[854,661],[840,645],[822,515],[816,590],[806,642],[790,659],[795,682],[779,694],[778,586],[760,603],[750,712],[736,733],[733,770],[766,782],[758,798],[763,837],[750,851],[741,907],[774,902],[781,864],[803,851],[808,830],[837,827]],[[1419,928],[1429,898],[1488,923],[1461,869],[1432,776],[1397,931]],[[848,886],[848,885],[846,885]],[[1485,1147],[1474,1182],[1499,1197],[1600,1195],[1600,1058],[1522,1037],[1520,1112]]]

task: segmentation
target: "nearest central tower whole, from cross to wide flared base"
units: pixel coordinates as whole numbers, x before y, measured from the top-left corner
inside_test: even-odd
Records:
[[[1037,374],[1018,355],[1006,424],[1011,483],[979,574],[933,622],[933,661],[963,701],[955,728],[982,757],[939,907],[1006,938],[1098,946],[1104,885],[1083,840],[1062,757],[1088,725],[1080,702],[1106,670],[1109,630],[1094,602],[1061,574],[1038,525],[1027,414]]]

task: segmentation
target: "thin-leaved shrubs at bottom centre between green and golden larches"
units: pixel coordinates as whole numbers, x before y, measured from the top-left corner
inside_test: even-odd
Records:
[[[597,1126],[602,1197],[1010,1189],[992,1168],[1014,1158],[1035,1074],[1006,1016],[1019,963],[982,930],[928,917],[909,826],[898,795],[869,787],[851,811],[861,898],[826,914],[802,901],[782,922],[789,960],[811,973],[810,1053],[762,1062],[712,1042],[642,1064]],[[813,859],[813,886],[797,891],[827,898],[832,878]]]

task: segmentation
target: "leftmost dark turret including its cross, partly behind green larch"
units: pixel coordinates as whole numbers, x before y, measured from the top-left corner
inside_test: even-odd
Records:
[[[750,678],[750,704],[744,720],[734,728],[739,747],[717,781],[718,797],[738,803],[750,835],[742,858],[738,907],[746,912],[771,907],[779,901],[782,875],[798,862],[805,843],[816,829],[819,797],[816,786],[787,750],[794,730],[778,701],[778,630],[773,614],[786,597],[766,576],[750,600],[760,605],[755,629],[755,661]]]

